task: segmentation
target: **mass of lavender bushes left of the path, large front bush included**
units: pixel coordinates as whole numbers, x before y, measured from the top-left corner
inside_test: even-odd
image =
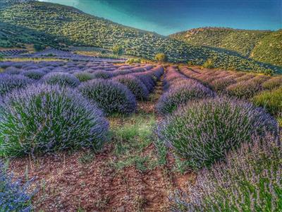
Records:
[[[24,64],[0,74],[0,155],[98,149],[108,134],[104,115],[135,112],[136,98],[146,100],[164,73],[152,65],[104,64],[101,70],[95,64],[78,71],[61,64]]]

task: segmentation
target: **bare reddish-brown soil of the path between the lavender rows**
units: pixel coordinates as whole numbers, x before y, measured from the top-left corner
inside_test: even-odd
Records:
[[[139,102],[136,115],[161,119],[154,112],[161,93],[159,82],[150,99]],[[128,122],[124,120],[117,118],[112,122],[122,126]],[[36,160],[14,159],[10,167],[16,177],[34,179],[32,185],[39,189],[33,201],[35,211],[168,211],[171,192],[185,189],[195,179],[192,173],[174,172],[170,155],[166,165],[156,165],[158,157],[152,141],[139,148],[140,152],[129,148],[126,160],[122,153],[116,154],[116,146],[117,143],[110,142],[96,155],[79,151],[45,155]],[[142,162],[142,158],[149,159]],[[118,164],[123,168],[117,168]]]

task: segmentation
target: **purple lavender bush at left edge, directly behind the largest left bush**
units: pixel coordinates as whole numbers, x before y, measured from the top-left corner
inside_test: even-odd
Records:
[[[0,96],[6,95],[13,89],[24,88],[30,83],[32,80],[22,75],[0,74]]]

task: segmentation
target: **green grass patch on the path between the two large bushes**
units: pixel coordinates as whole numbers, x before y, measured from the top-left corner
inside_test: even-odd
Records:
[[[154,140],[153,128],[156,117],[153,114],[111,117],[111,136],[114,143],[115,161],[110,165],[117,170],[134,165],[144,172],[157,165],[157,159],[149,152],[144,153]]]

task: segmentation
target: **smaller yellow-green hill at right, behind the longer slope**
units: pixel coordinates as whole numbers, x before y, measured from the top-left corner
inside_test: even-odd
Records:
[[[222,48],[269,64],[282,65],[282,30],[196,28],[170,35],[190,45]]]

